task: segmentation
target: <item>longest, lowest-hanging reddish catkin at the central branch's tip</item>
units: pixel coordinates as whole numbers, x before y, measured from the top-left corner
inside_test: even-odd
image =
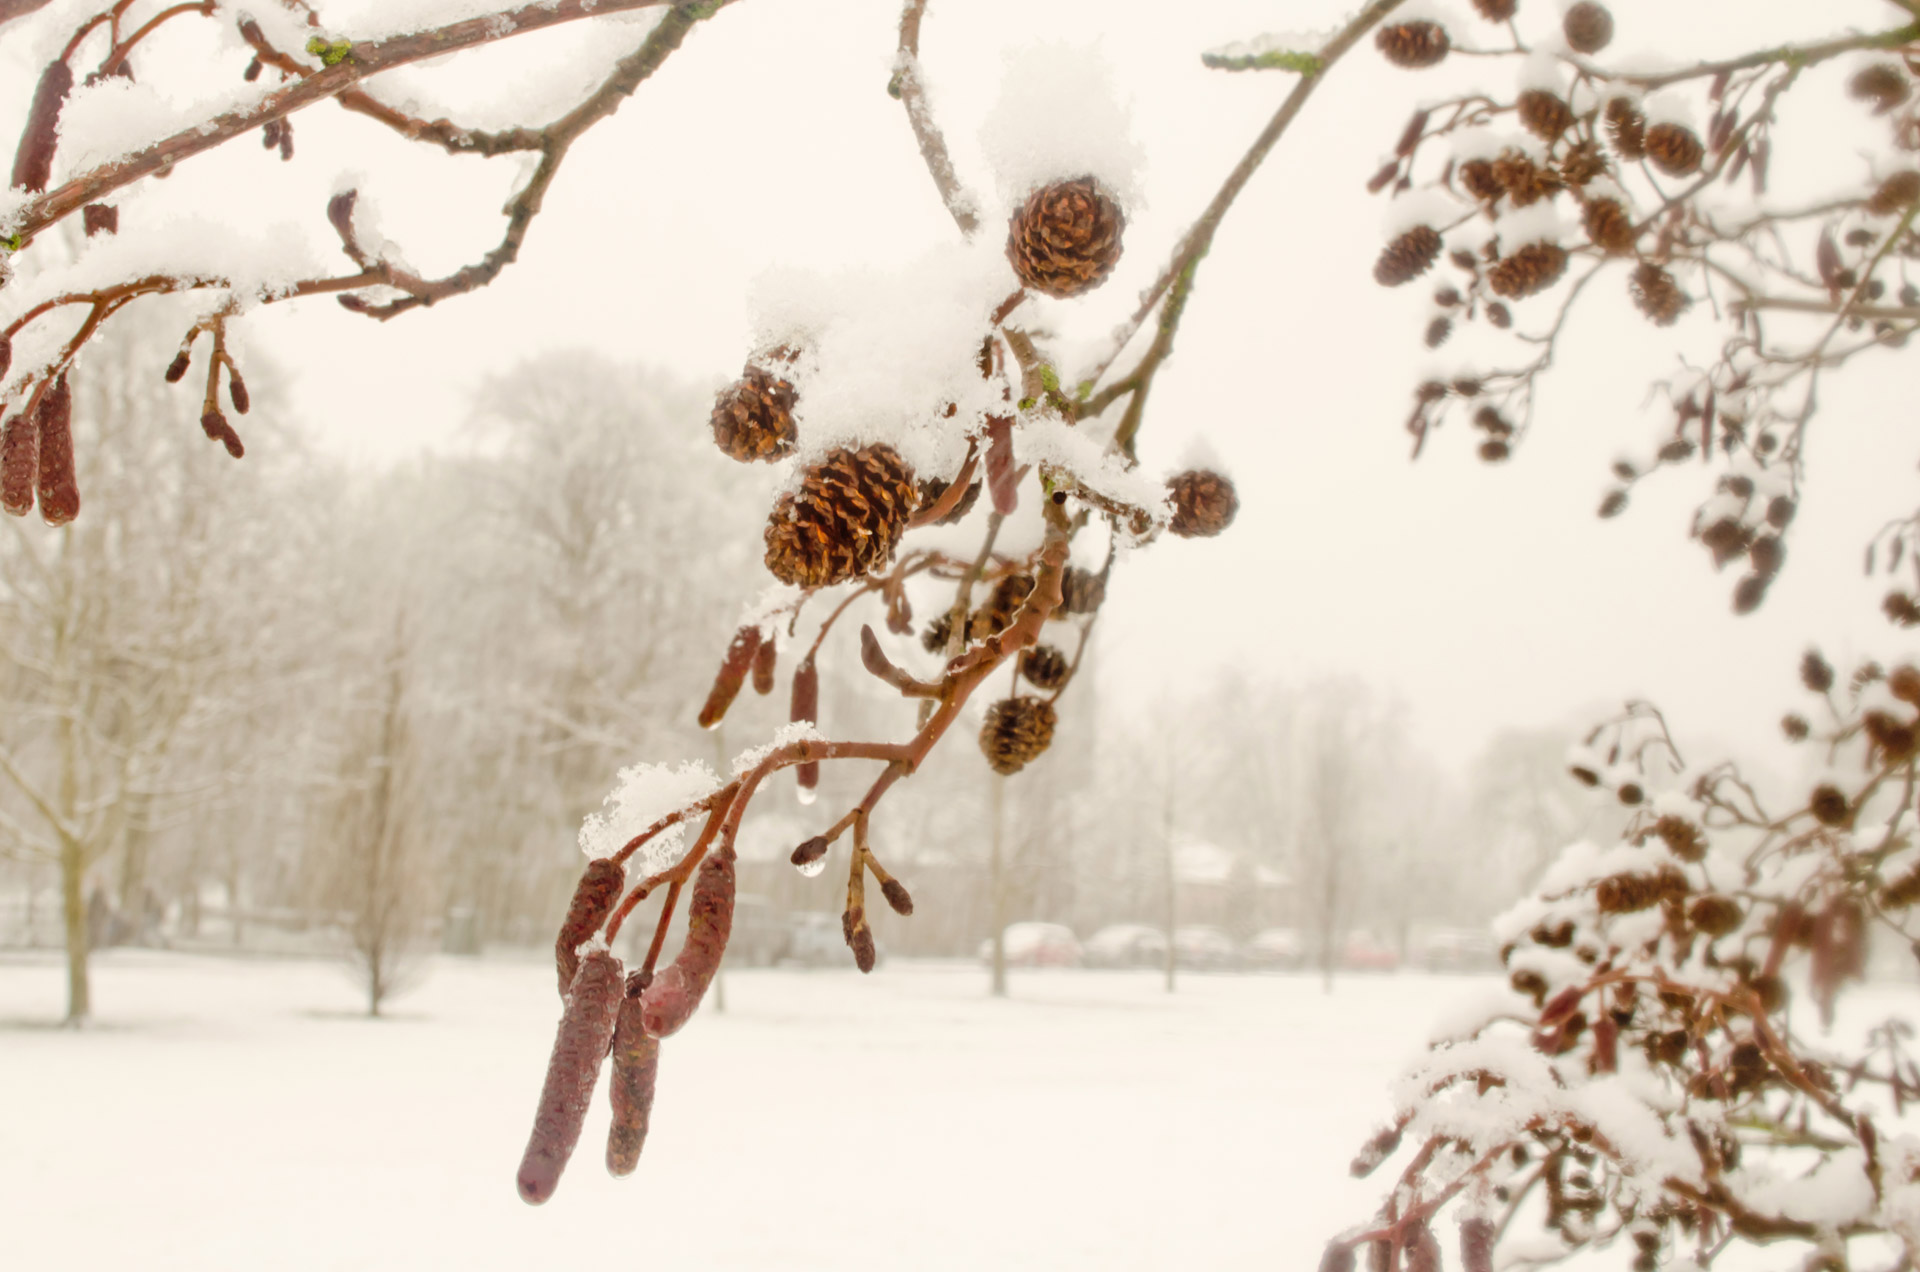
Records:
[[[599,1082],[601,1061],[612,1043],[614,1020],[624,997],[620,959],[607,949],[595,949],[580,963],[566,1013],[553,1038],[553,1057],[547,1061],[547,1082],[540,1088],[540,1107],[534,1113],[534,1134],[520,1157],[520,1201],[540,1205],[553,1195],[566,1170],[566,1159],[580,1143],[580,1126],[588,1118],[593,1088]]]

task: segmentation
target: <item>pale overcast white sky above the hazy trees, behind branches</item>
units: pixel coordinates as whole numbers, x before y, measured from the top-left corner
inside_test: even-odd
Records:
[[[56,0],[50,13],[63,8],[81,6]],[[1659,56],[1899,17],[1885,0],[1615,8],[1619,48]],[[1206,71],[1200,50],[1327,27],[1344,10],[935,0],[924,42],[935,108],[985,198],[995,184],[977,131],[1010,50],[1098,44],[1129,98],[1146,167],[1127,259],[1096,298],[1050,311],[1054,321],[1110,327],[1292,85],[1283,73]],[[770,265],[893,265],[954,238],[883,90],[897,15],[895,0],[743,0],[576,148],[520,263],[495,286],[388,325],[328,300],[284,306],[252,319],[246,338],[294,373],[313,434],[372,465],[465,446],[474,386],[549,346],[720,382],[739,367],[747,294]],[[455,117],[497,121],[501,102],[543,100],[570,60],[636,38],[586,23],[409,75]],[[33,44],[0,37],[10,119],[31,92]],[[234,50],[207,73],[225,83],[244,61]],[[1624,275],[1574,323],[1540,427],[1511,463],[1480,465],[1459,427],[1409,463],[1409,388],[1428,367],[1457,363],[1419,344],[1423,288],[1373,284],[1384,200],[1361,186],[1415,100],[1486,65],[1413,77],[1361,50],[1246,190],[1200,273],[1140,448],[1148,465],[1171,467],[1204,442],[1235,475],[1242,513],[1219,540],[1169,540],[1127,561],[1100,624],[1098,673],[1133,701],[1200,688],[1229,665],[1292,680],[1357,674],[1398,694],[1450,767],[1501,726],[1580,721],[1626,696],[1657,699],[1693,736],[1778,755],[1776,721],[1793,705],[1805,644],[1884,657],[1912,644],[1878,619],[1884,584],[1859,569],[1866,538],[1914,503],[1910,361],[1864,361],[1824,394],[1789,563],[1751,619],[1732,617],[1732,576],[1715,576],[1686,538],[1705,471],[1644,486],[1619,521],[1594,517],[1609,461],[1645,453],[1661,427],[1645,384],[1674,365],[1674,336],[1634,315]],[[1507,83],[1511,69],[1490,75]],[[1859,121],[1839,71],[1809,75],[1795,96],[1807,110],[1797,123],[1789,111],[1780,135],[1782,179],[1864,181],[1864,156],[1834,131]],[[148,196],[152,208],[211,190],[228,215],[261,209],[326,254],[326,194],[342,173],[359,173],[386,232],[424,271],[474,259],[497,238],[511,159],[420,156],[323,108],[298,117],[296,138],[294,163],[252,144],[194,159]],[[1791,167],[1793,150],[1807,169]],[[1701,336],[1711,327],[1680,332],[1692,348]]]

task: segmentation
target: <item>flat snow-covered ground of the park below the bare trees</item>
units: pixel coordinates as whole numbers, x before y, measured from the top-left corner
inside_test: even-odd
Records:
[[[607,1178],[597,1109],[530,1209],[545,965],[440,961],[367,1020],[330,965],[109,953],[75,1034],[54,959],[8,955],[0,1266],[1311,1268],[1379,1201],[1346,1162],[1388,1080],[1473,990],[733,972],[664,1047],[639,1172]]]

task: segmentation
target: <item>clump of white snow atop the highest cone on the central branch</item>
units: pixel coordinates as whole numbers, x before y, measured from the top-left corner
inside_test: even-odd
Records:
[[[1092,177],[1121,204],[1140,200],[1146,152],[1098,48],[1021,48],[1008,60],[979,142],[1008,204],[1033,186],[1075,177]]]

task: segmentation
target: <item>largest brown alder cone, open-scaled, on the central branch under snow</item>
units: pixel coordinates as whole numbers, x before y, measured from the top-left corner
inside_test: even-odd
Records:
[[[916,500],[914,471],[891,446],[837,450],[774,505],[766,569],[797,588],[860,578],[893,557]]]

